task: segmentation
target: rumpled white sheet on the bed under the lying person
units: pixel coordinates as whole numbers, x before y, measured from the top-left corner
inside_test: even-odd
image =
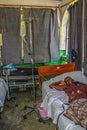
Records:
[[[56,82],[59,80],[64,80],[66,76],[72,77],[75,81],[79,81],[87,84],[87,77],[83,75],[81,71],[68,72],[65,74],[61,74],[52,78],[51,80],[45,81],[42,84],[42,98],[43,103],[42,106],[47,111],[48,117],[53,119],[53,123],[57,124],[57,118],[59,114],[63,111],[62,104],[68,103],[68,96],[64,91],[58,91],[55,89],[49,88],[49,85],[52,82]],[[64,105],[65,109],[67,109],[68,105]],[[59,128],[60,130],[85,130],[79,125],[75,125],[74,122],[67,119],[65,116],[61,115],[59,118]]]

